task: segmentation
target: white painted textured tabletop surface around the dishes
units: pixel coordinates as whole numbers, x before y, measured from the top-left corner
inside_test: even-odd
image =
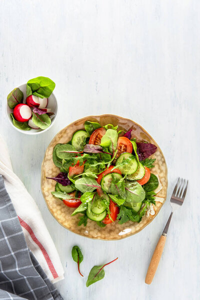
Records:
[[[198,0],[0,0],[0,133],[60,254],[65,279],[57,287],[66,300],[200,298],[199,12]],[[6,96],[39,75],[55,81],[59,115],[48,132],[27,136],[6,120]],[[168,201],[140,233],[109,242],[61,227],[41,195],[40,165],[52,137],[77,118],[101,113],[133,119],[158,142],[168,199],[177,176],[189,179],[151,285],[145,272]],[[84,254],[84,278],[70,255],[74,244]],[[116,256],[104,279],[85,287],[90,268]]]

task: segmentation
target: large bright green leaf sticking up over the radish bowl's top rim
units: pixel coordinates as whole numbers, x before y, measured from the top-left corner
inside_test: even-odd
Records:
[[[55,88],[55,83],[48,77],[39,76],[28,80],[26,84],[26,95],[31,94],[40,98],[47,98]]]

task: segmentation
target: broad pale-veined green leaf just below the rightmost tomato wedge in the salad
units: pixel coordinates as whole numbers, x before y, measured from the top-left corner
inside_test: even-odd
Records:
[[[141,202],[145,198],[145,191],[137,181],[125,181],[126,201]]]

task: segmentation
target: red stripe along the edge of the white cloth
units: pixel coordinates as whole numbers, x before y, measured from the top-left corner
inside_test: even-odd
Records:
[[[36,236],[34,235],[34,232],[32,231],[32,229],[30,228],[30,226],[25,222],[23,221],[19,216],[18,216],[18,219],[19,219],[19,222],[20,222],[20,225],[25,228],[28,233],[30,234],[32,240],[38,245],[38,247],[40,248],[45,260],[46,260],[46,263],[49,267],[49,270],[53,276],[53,278],[57,278],[58,277],[58,274],[52,264],[52,261],[50,260],[50,257],[48,256],[48,253],[46,252],[46,249],[44,248],[44,246],[40,243],[40,241],[36,238]]]

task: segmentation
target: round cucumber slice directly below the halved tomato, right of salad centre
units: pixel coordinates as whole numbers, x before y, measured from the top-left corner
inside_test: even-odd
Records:
[[[124,160],[127,160],[127,162],[123,163]],[[124,175],[134,173],[137,170],[137,166],[138,163],[135,156],[128,152],[122,153],[116,160],[116,167]]]

